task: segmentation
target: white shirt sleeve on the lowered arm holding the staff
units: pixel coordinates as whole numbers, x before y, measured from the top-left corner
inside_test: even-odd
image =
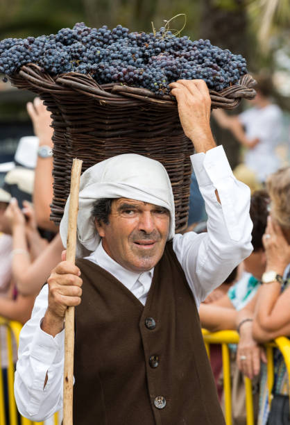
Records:
[[[53,338],[40,328],[47,308],[48,285],[35,300],[31,319],[20,333],[14,392],[19,412],[31,421],[48,419],[62,408],[65,331]],[[48,374],[48,381],[44,381]]]

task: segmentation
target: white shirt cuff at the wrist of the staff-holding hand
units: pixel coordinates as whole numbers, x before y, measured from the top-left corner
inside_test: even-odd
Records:
[[[33,336],[31,356],[44,365],[59,363],[65,353],[65,329],[53,338],[49,333],[42,331],[41,322],[42,319]]]

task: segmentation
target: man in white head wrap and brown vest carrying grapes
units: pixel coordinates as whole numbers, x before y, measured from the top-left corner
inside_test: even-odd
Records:
[[[62,406],[63,321],[78,306],[74,424],[224,424],[197,308],[252,250],[250,193],[216,147],[205,83],[171,88],[197,152],[208,231],[174,235],[171,184],[157,161],[117,156],[83,174],[77,253],[90,255],[53,270],[19,345],[15,397],[32,420]],[[67,208],[60,233],[65,242]]]

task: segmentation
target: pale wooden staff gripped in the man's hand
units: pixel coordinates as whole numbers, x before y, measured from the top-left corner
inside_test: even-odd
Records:
[[[78,190],[82,160],[74,159],[71,167],[69,192],[69,226],[67,229],[67,261],[74,264],[76,258],[76,226],[78,217]],[[65,367],[63,381],[63,425],[73,425],[74,383],[74,307],[65,312]]]

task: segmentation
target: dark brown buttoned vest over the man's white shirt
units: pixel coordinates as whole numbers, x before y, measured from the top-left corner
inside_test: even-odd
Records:
[[[168,242],[146,306],[78,260],[74,425],[222,425],[194,297]]]

